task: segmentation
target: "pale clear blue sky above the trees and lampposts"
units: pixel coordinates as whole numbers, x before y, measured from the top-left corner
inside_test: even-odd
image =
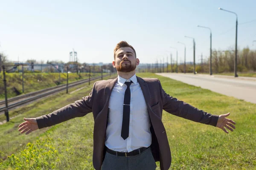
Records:
[[[79,62],[112,62],[116,43],[126,40],[134,46],[142,63],[154,63],[166,50],[178,48],[183,60],[192,61],[192,40],[196,42],[196,60],[209,56],[209,30],[212,48],[235,47],[234,14],[238,14],[239,49],[256,49],[256,0],[0,0],[0,52],[9,60],[69,60],[77,51]],[[229,30],[229,31],[228,31]],[[161,55],[163,57],[161,57]]]

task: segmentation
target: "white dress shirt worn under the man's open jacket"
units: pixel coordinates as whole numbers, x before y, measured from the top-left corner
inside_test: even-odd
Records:
[[[125,82],[132,81],[130,86],[130,124],[127,139],[121,137],[123,103],[127,85]],[[134,74],[129,80],[118,76],[109,101],[108,126],[106,130],[105,145],[118,152],[131,152],[140,147],[151,145],[150,118],[145,103],[143,92],[137,77]]]

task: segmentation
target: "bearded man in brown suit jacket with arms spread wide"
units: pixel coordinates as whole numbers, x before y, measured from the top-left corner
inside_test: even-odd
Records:
[[[135,75],[139,65],[134,48],[121,41],[114,49],[116,79],[95,82],[89,96],[48,115],[26,119],[20,133],[85,116],[93,112],[93,166],[96,170],[161,170],[171,165],[171,152],[162,123],[163,109],[195,122],[233,131],[236,124],[224,115],[211,115],[169,96],[158,79]],[[232,129],[233,128],[233,129]]]

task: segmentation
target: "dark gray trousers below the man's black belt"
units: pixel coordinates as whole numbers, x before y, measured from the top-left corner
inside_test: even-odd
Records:
[[[150,147],[140,155],[116,156],[106,152],[101,170],[155,170],[157,167]]]

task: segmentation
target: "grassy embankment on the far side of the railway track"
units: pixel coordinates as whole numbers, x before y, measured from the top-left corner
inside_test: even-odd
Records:
[[[105,73],[104,73],[105,74]],[[99,76],[100,73],[91,73],[91,76]],[[76,73],[68,75],[69,82],[74,82],[80,79],[88,79],[88,73],[81,73],[80,76]],[[24,73],[24,94],[33,91],[38,91],[44,88],[53,87],[67,83],[67,74],[61,73]],[[22,93],[22,73],[6,73],[6,85],[8,98],[17,96],[14,88]],[[4,99],[3,73],[0,74],[0,100]]]

